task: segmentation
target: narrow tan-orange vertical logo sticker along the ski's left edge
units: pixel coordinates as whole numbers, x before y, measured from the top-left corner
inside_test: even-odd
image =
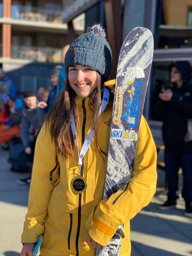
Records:
[[[121,124],[122,104],[123,104],[123,88],[117,87],[116,99],[115,99],[115,111],[114,111],[114,117],[113,117],[113,123],[115,125]]]

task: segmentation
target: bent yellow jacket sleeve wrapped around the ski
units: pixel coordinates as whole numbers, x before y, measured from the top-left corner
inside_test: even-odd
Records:
[[[132,178],[95,207],[86,227],[92,239],[106,246],[118,226],[131,220],[155,194],[156,148],[145,118],[141,118]]]

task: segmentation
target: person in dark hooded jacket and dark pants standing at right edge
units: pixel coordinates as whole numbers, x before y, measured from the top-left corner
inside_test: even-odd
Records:
[[[178,171],[182,168],[182,197],[186,203],[185,215],[192,217],[192,83],[188,61],[174,62],[170,66],[172,86],[159,93],[155,115],[163,120],[165,143],[165,171],[167,175],[167,201],[159,206],[166,210],[175,207],[178,196]]]

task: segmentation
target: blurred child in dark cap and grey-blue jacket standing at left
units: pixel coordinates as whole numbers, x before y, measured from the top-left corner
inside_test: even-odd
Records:
[[[36,138],[44,122],[44,111],[37,107],[37,95],[34,91],[24,92],[23,101],[25,106],[22,112],[21,140],[25,153],[29,156],[30,162],[33,162]],[[30,141],[31,130],[33,130],[33,141]],[[31,175],[25,179],[19,179],[18,183],[29,184],[30,178]]]

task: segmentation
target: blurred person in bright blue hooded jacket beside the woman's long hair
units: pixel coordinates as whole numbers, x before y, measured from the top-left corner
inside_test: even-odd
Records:
[[[58,99],[61,92],[64,90],[66,80],[66,71],[61,65],[54,67],[51,75],[52,90],[49,93],[47,102],[40,101],[38,107],[44,108],[45,112],[51,110],[55,100]]]

